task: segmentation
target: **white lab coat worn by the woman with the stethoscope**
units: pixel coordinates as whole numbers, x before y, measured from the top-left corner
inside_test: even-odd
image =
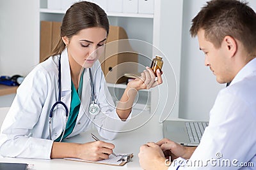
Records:
[[[58,101],[58,59],[50,57],[26,76],[1,127],[0,153],[4,157],[50,159],[53,141],[49,136],[49,112]],[[113,139],[125,122],[118,117],[115,104],[109,94],[99,61],[92,67],[93,83],[100,113],[88,113],[91,100],[90,74],[84,70],[81,106],[76,126],[68,136],[86,131],[92,122],[100,136]],[[70,110],[71,76],[67,50],[61,54],[61,101]],[[60,104],[57,107],[62,107]],[[130,115],[131,117],[131,115]],[[65,128],[65,110],[54,109],[52,140],[58,138]]]

